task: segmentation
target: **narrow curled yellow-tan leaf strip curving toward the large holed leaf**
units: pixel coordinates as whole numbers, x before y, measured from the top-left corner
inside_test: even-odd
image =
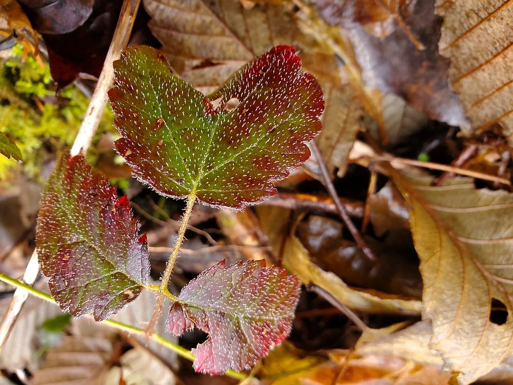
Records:
[[[367,293],[349,287],[336,274],[324,271],[311,262],[301,241],[290,234],[288,218],[290,210],[259,206],[257,213],[269,245],[275,255],[282,259],[283,266],[298,276],[303,284],[314,284],[331,294],[339,302],[354,310],[370,313],[419,314],[421,303],[417,300],[403,300],[384,293]]]

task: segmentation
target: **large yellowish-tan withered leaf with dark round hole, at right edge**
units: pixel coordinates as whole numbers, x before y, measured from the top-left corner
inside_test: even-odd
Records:
[[[513,195],[476,189],[468,178],[441,187],[397,173],[393,179],[411,206],[430,346],[469,383],[494,369],[513,343]],[[501,303],[507,319],[492,313]]]

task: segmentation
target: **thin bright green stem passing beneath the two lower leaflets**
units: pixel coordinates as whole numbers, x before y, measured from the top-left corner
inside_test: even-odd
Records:
[[[40,292],[37,289],[33,288],[32,286],[30,286],[26,283],[23,283],[21,281],[18,281],[17,279],[11,278],[8,275],[0,273],[0,281],[8,283],[14,287],[21,288],[21,289],[27,291],[29,294],[33,295],[34,297],[41,298],[44,301],[47,301],[47,302],[57,305],[57,302],[55,302],[55,300],[49,294]],[[92,316],[88,316],[88,317],[92,318]],[[103,321],[101,321],[101,323],[104,323],[108,326],[111,326],[112,328],[115,328],[117,330],[122,330],[127,333],[131,333],[131,334],[135,334],[135,335],[139,335],[139,336],[146,335],[146,332],[143,329],[136,328],[135,326],[127,325],[125,323],[113,321],[111,319],[103,320]],[[153,333],[150,336],[150,339],[152,339],[153,341],[155,341],[157,343],[160,343],[164,347],[168,348],[169,350],[172,350],[179,356],[184,357],[190,361],[194,361],[194,359],[196,358],[194,356],[194,354],[192,354],[190,351],[188,351],[187,349],[181,347],[180,345],[178,345],[176,343],[173,343],[173,342],[167,340],[160,334]],[[238,380],[245,379],[247,377],[246,374],[241,373],[241,372],[236,372],[234,370],[226,371],[225,375],[227,375],[228,377],[231,377],[231,378],[238,379]]]

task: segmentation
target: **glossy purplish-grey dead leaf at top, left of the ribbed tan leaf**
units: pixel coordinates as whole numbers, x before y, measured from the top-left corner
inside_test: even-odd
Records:
[[[407,29],[398,25],[384,39],[369,34],[357,22],[361,1],[323,0],[317,6],[324,20],[344,28],[365,84],[399,95],[431,119],[451,125],[467,124],[458,96],[448,85],[449,63],[438,53],[440,22],[434,14],[435,0],[404,2],[401,14]],[[418,49],[412,36],[425,49]]]

